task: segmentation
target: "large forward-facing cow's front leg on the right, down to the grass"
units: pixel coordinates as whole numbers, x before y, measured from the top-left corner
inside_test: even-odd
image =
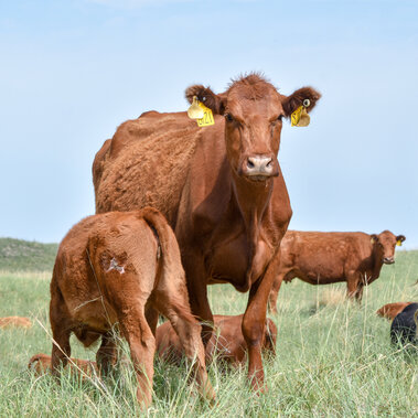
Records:
[[[278,270],[278,257],[269,264],[264,277],[253,283],[243,318],[243,335],[248,346],[248,378],[255,390],[266,390],[261,345],[266,326],[267,301]]]

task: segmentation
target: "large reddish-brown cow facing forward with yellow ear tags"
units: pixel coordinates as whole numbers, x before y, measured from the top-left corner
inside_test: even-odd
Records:
[[[173,227],[186,272],[192,312],[213,322],[207,285],[249,290],[243,318],[248,376],[264,389],[261,342],[267,299],[276,276],[275,255],[291,217],[277,161],[282,119],[320,94],[310,87],[283,96],[257,74],[234,81],[222,94],[186,89],[214,114],[199,127],[186,112],[149,111],[128,120],[96,154],[96,212],[159,208]],[[157,315],[149,317],[152,329]]]

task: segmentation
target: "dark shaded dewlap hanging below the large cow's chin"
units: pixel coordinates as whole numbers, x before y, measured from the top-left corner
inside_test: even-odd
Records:
[[[233,173],[234,201],[238,206],[245,225],[248,251],[247,283],[253,281],[251,267],[257,251],[261,221],[271,197],[274,180],[250,182]]]

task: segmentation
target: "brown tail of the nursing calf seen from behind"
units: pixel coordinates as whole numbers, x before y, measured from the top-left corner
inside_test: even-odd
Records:
[[[157,258],[159,259],[160,266],[159,279],[161,277],[165,277],[167,279],[174,277],[181,278],[184,283],[184,292],[186,292],[185,274],[181,264],[180,248],[173,229],[161,212],[154,207],[147,206],[142,208],[140,211],[140,217],[143,218],[153,231],[159,243],[157,250]],[[183,307],[183,303],[173,299],[172,304],[176,311],[181,311],[184,319],[193,321],[194,317],[191,314],[190,309]]]

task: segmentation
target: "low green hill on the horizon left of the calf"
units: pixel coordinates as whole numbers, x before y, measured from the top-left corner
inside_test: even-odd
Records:
[[[52,270],[57,249],[57,244],[0,238],[0,270]]]

